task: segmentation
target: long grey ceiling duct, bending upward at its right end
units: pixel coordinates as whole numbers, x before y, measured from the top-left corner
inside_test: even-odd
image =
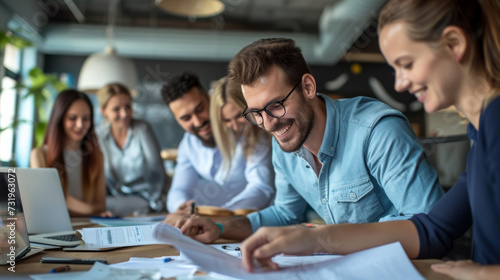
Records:
[[[327,6],[318,22],[319,35],[224,30],[115,28],[118,54],[133,58],[228,61],[241,48],[264,37],[289,37],[302,48],[308,63],[332,65],[351,48],[386,0],[340,0]],[[371,30],[370,30],[371,32]],[[376,40],[376,31],[373,31]],[[40,51],[47,54],[89,55],[106,46],[105,27],[49,24],[42,30]],[[356,47],[356,46],[354,46]]]

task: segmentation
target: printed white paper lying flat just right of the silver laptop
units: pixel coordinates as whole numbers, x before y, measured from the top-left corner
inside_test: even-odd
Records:
[[[87,247],[106,248],[159,244],[153,237],[154,226],[84,228],[80,232]]]

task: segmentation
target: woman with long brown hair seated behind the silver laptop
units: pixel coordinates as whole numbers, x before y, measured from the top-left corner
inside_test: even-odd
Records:
[[[72,216],[111,215],[106,210],[103,157],[94,131],[94,111],[85,93],[57,96],[41,147],[31,151],[31,167],[55,167]]]

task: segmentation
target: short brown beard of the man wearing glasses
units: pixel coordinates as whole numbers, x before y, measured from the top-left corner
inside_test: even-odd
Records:
[[[275,125],[271,130],[266,129],[268,133],[271,133],[272,131],[276,131],[287,125],[290,125],[290,123],[292,122],[297,126],[299,135],[295,143],[291,142],[295,138],[292,138],[285,143],[281,143],[279,139],[273,135],[273,137],[280,145],[281,149],[286,153],[298,151],[306,141],[307,137],[309,136],[309,133],[311,132],[314,126],[314,112],[312,110],[312,107],[307,102],[304,102],[303,104],[304,105],[298,110],[296,118],[294,118],[293,120],[284,119],[283,123],[278,122],[278,124]]]

